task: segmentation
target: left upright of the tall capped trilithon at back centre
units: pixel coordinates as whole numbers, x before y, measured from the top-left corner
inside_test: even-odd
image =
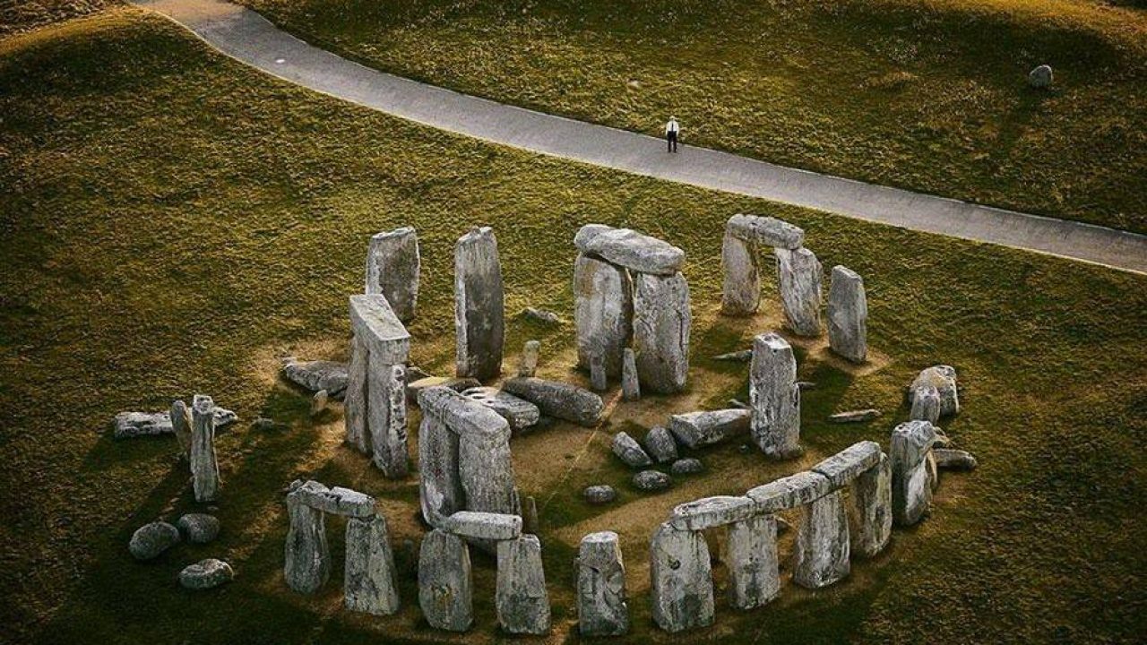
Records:
[[[606,374],[622,373],[622,350],[633,336],[633,290],[630,274],[587,255],[574,263],[574,322],[577,364],[588,370],[594,355],[606,362]]]

